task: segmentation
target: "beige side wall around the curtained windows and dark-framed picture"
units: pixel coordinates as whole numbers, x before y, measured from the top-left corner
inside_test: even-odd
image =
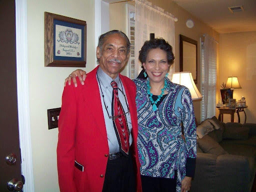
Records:
[[[192,16],[189,12],[171,2],[170,0],[148,0],[152,2],[152,5],[159,6],[163,8],[165,11],[168,11],[175,15],[178,18],[178,21],[175,22],[175,71],[179,71],[179,34],[185,35],[189,38],[192,38],[197,41],[197,80],[196,84],[197,88],[200,90],[200,81],[201,81],[201,70],[200,70],[200,35],[203,33],[207,33],[210,36],[214,37],[217,41],[219,40],[219,34],[213,30],[211,27],[201,22]],[[134,3],[133,3],[134,5]],[[122,29],[126,30],[126,26],[124,26],[125,19],[123,16],[125,14],[125,3],[114,3],[109,5],[110,8],[110,29]],[[188,18],[191,18],[194,21],[194,27],[188,28],[185,25],[185,22]],[[120,20],[122,22],[120,22]],[[218,77],[218,45],[217,45],[217,85],[216,88],[219,88],[219,77]],[[216,98],[218,100],[218,97]],[[194,112],[198,121],[201,119],[201,102],[194,101]]]

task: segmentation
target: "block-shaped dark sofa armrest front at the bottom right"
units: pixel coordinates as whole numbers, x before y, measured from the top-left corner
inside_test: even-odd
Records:
[[[248,191],[249,177],[246,156],[222,154],[217,157],[215,191]]]

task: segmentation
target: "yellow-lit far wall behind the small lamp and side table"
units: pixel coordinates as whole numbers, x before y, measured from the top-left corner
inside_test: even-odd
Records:
[[[226,83],[228,76],[238,77],[242,88],[234,89],[233,98],[237,101],[245,96],[248,105],[246,122],[256,123],[256,31],[220,34],[219,41],[220,82]],[[237,122],[237,115],[234,117]],[[243,112],[240,112],[240,118],[244,122]],[[225,114],[224,121],[230,121],[230,115]]]

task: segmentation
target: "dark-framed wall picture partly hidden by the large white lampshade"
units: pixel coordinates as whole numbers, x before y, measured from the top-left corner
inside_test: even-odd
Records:
[[[179,34],[179,69],[189,71],[197,84],[197,41]]]

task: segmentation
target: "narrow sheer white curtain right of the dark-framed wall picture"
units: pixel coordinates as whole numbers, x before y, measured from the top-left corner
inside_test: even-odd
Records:
[[[216,106],[216,41],[208,34],[201,37],[202,120],[215,115]]]

